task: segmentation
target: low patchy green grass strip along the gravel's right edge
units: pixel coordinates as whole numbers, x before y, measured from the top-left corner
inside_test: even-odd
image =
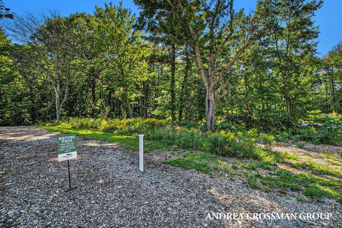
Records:
[[[298,157],[292,155],[287,157],[292,157],[294,160],[298,159]],[[229,175],[244,174],[249,187],[267,193],[279,192],[281,195],[286,195],[291,190],[301,192],[313,199],[321,199],[322,197],[332,197],[336,200],[342,199],[342,181],[339,179],[317,177],[311,172],[296,174],[263,160],[241,160],[231,165],[208,153],[188,152],[183,157],[165,160],[165,164],[194,169],[211,175],[217,171],[223,171]],[[310,169],[311,167],[307,168]],[[268,172],[266,175],[261,175],[259,169]],[[242,170],[247,172],[242,172]]]

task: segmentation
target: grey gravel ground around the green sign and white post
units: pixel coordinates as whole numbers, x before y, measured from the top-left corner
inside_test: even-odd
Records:
[[[276,197],[239,178],[164,165],[157,152],[145,155],[141,173],[138,152],[81,137],[78,160],[71,161],[78,188],[64,193],[67,167],[56,159],[56,135],[35,127],[0,128],[0,227],[342,227],[341,204],[331,199]],[[332,219],[237,222],[208,219],[211,212],[329,212]]]

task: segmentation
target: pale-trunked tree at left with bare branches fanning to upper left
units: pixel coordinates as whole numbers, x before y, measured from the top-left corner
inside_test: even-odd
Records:
[[[31,13],[17,16],[13,24],[5,26],[16,41],[31,46],[43,61],[41,68],[53,87],[56,120],[60,120],[73,65],[70,21],[51,11],[49,16],[39,18]]]

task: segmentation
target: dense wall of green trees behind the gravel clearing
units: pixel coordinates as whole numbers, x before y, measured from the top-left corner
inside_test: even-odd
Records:
[[[342,43],[316,50],[322,1],[141,1],[4,18],[0,125],[157,118],[288,130],[342,113]],[[216,129],[215,129],[216,127]]]

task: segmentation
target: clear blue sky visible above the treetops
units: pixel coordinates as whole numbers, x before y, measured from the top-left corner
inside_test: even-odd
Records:
[[[24,11],[32,11],[40,13],[46,9],[57,9],[61,15],[68,16],[75,12],[93,13],[95,6],[104,6],[106,2],[103,0],[4,0],[6,7],[16,14],[22,14]],[[244,8],[246,11],[255,8],[257,0],[236,0],[235,7],[237,9]],[[118,0],[113,0],[114,4],[118,4]],[[130,8],[133,13],[138,14],[138,7],[133,4],[133,0],[123,0],[123,6]],[[327,53],[338,41],[342,41],[342,1],[341,0],[324,0],[321,9],[317,11],[315,16],[316,24],[319,26],[320,34],[318,38],[318,52],[321,55]],[[320,55],[320,56],[321,56]]]

